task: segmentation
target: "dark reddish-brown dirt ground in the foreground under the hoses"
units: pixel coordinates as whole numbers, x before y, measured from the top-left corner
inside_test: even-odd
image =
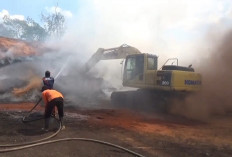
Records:
[[[107,104],[110,105],[110,104]],[[0,145],[38,140],[53,134],[58,125],[43,132],[43,120],[23,123],[33,103],[0,104]],[[33,115],[42,115],[38,106]],[[208,122],[174,115],[129,109],[65,108],[66,129],[53,139],[91,138],[110,142],[146,157],[232,156],[232,114],[215,116]],[[4,147],[0,148],[1,150]],[[5,152],[1,157],[130,157],[118,148],[85,141],[64,141]]]

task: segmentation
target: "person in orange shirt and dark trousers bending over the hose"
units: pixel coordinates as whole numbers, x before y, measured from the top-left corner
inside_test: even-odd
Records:
[[[64,116],[63,95],[57,90],[50,89],[48,86],[43,86],[41,92],[45,103],[45,113],[44,113],[45,125],[44,128],[42,128],[42,130],[48,131],[50,117],[55,106],[58,109],[59,121],[61,123],[62,130],[65,129],[65,126],[63,125],[63,116]]]

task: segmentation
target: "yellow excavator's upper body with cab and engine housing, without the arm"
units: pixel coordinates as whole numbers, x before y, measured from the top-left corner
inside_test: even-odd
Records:
[[[173,59],[172,59],[173,60]],[[158,57],[152,54],[133,54],[126,57],[123,86],[158,91],[198,91],[201,75],[192,67],[164,64],[158,70]]]

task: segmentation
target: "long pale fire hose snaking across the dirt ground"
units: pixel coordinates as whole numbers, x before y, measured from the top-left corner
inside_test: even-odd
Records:
[[[28,117],[31,114],[31,112],[36,108],[36,106],[41,102],[41,100],[42,100],[42,98],[40,98],[39,101],[35,104],[35,106],[28,112],[28,114],[23,117],[23,119],[22,119],[23,122],[34,121],[34,120],[26,120],[26,117]],[[40,119],[42,119],[42,118],[40,118]],[[39,120],[39,119],[35,119],[35,120]],[[56,120],[58,121],[58,119],[56,119]],[[138,157],[144,157],[143,155],[138,154],[138,153],[136,153],[136,152],[134,152],[132,150],[129,150],[127,148],[124,148],[122,146],[112,144],[112,143],[109,143],[109,142],[105,142],[105,141],[96,140],[96,139],[90,139],[90,138],[63,138],[63,139],[49,140],[49,139],[55,137],[60,131],[61,131],[61,123],[59,123],[59,129],[54,134],[52,134],[51,136],[48,136],[48,137],[40,139],[40,140],[31,141],[31,142],[0,145],[0,147],[4,147],[4,149],[0,149],[0,153],[17,151],[17,150],[22,150],[22,149],[26,149],[26,148],[31,148],[31,147],[36,147],[36,146],[45,145],[45,144],[51,144],[51,143],[57,143],[57,142],[63,142],[63,141],[85,141],[85,142],[93,142],[93,143],[99,143],[99,144],[103,144],[103,145],[108,145],[108,146],[111,146],[111,147],[121,149],[121,150],[123,150],[123,151],[125,151],[127,153],[132,154],[132,155],[135,155],[135,156],[138,156]]]

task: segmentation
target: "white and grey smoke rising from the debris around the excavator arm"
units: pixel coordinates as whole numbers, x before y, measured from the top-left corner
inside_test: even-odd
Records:
[[[199,55],[196,51],[200,42],[205,43],[203,37],[207,30],[212,25],[229,25],[227,21],[231,19],[232,8],[227,6],[232,6],[231,3],[217,0],[87,1],[81,4],[78,15],[73,15],[73,22],[69,23],[64,37],[46,42],[53,52],[45,52],[28,62],[28,67],[22,63],[12,65],[11,68],[15,66],[14,72],[9,75],[5,70],[1,76],[18,79],[21,75],[27,76],[28,69],[32,68],[33,73],[41,78],[46,70],[55,77],[65,65],[55,80],[54,88],[78,101],[78,97],[97,97],[96,93],[105,86],[121,86],[119,62],[99,62],[89,73],[82,73],[85,62],[100,47],[112,48],[126,43],[143,53],[157,54],[159,66],[170,57],[179,58],[180,64],[193,62],[195,66]],[[208,49],[209,46],[202,48]],[[28,79],[29,76],[23,81]],[[9,89],[22,84],[15,82],[8,86]]]

